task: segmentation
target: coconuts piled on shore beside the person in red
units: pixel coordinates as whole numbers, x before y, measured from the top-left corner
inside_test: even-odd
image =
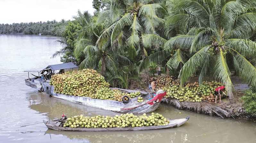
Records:
[[[156,79],[156,88],[167,91],[165,98],[175,98],[180,102],[215,102],[215,89],[223,86],[217,81],[204,81],[201,86],[198,82],[194,82],[187,83],[185,87],[180,87],[180,81],[174,76],[154,77],[150,79],[150,82],[153,79]],[[227,94],[226,91],[225,94]],[[222,94],[222,98],[226,98],[226,95]]]

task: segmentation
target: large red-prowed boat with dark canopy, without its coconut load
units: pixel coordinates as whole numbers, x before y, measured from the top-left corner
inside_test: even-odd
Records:
[[[121,112],[121,113],[140,114],[140,113],[153,112],[158,108],[160,101],[166,95],[166,92],[164,92],[161,94],[157,94],[156,96],[151,98],[150,93],[140,91],[141,95],[138,97],[142,97],[144,100],[143,102],[137,102],[138,97],[135,97],[130,99],[128,103],[125,103],[125,102],[119,102],[114,100],[101,100],[101,99],[93,99],[90,97],[58,94],[54,92],[54,86],[49,85],[49,81],[51,77],[50,74],[40,76],[40,74],[44,72],[50,73],[49,71],[53,71],[54,73],[57,70],[64,71],[64,70],[70,70],[74,68],[77,68],[77,66],[71,62],[71,63],[64,63],[64,64],[49,65],[47,66],[47,68],[43,69],[42,71],[24,71],[24,72],[28,72],[28,75],[30,75],[31,72],[38,72],[38,76],[34,78],[29,77],[28,79],[25,79],[25,83],[27,86],[35,88],[41,91],[42,93],[49,95],[50,97],[56,97],[66,101],[70,101],[70,102],[80,103],[80,104],[84,104],[84,105],[99,108],[99,109],[105,109],[105,110]],[[134,90],[125,90],[120,88],[117,88],[117,89],[127,93],[137,92]]]

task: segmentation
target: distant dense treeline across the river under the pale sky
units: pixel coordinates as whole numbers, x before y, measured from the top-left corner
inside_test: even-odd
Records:
[[[13,23],[0,25],[0,34],[42,34],[61,36],[68,21],[62,19],[47,22]]]

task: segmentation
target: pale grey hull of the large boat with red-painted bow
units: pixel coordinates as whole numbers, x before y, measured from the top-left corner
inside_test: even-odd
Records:
[[[154,98],[150,99],[150,94],[142,94],[141,97],[145,99],[144,102],[137,102],[138,97],[130,99],[130,102],[118,102],[114,100],[100,100],[93,99],[90,97],[80,97],[66,94],[58,94],[54,92],[54,86],[49,85],[49,82],[43,79],[25,79],[26,85],[41,91],[50,97],[63,99],[70,102],[84,104],[87,106],[110,110],[121,113],[149,113],[156,110],[160,104],[164,94],[159,94]]]

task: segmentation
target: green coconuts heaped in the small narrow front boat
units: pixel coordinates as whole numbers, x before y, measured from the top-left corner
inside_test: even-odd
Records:
[[[135,116],[132,113],[126,113],[121,115],[110,116],[95,116],[84,117],[83,115],[73,116],[67,118],[63,127],[70,128],[119,128],[119,127],[144,127],[144,126],[159,126],[167,125],[170,123],[165,117],[158,113],[151,113],[150,116],[146,116],[144,113],[142,116]]]

